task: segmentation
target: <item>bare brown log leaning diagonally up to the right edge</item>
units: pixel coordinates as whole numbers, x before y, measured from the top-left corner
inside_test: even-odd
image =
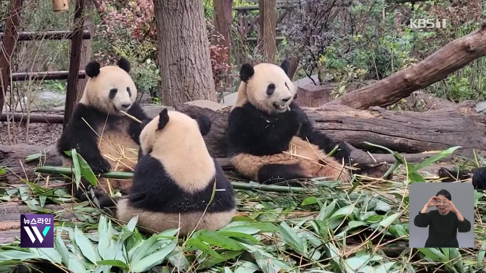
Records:
[[[342,104],[354,109],[391,105],[484,55],[486,23],[479,30],[451,41],[421,62],[326,104]]]

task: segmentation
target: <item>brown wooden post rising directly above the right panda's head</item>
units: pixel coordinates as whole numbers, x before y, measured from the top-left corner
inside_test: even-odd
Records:
[[[275,63],[277,54],[276,36],[276,1],[260,0],[260,35],[258,35],[258,44],[263,51],[265,61]]]

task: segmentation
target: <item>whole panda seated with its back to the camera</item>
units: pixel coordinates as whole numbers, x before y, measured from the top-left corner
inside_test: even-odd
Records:
[[[142,228],[162,232],[180,227],[183,235],[196,226],[214,231],[231,221],[236,213],[233,188],[203,139],[210,126],[206,116],[167,108],[143,121],[141,158],[128,198],[118,201],[119,220],[128,222],[138,215]],[[208,206],[214,183],[214,199]]]

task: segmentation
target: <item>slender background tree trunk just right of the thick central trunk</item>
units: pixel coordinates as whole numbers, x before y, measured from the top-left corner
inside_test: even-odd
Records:
[[[226,54],[229,56],[226,63],[231,65],[231,12],[233,11],[233,0],[214,0],[213,7],[214,28],[225,38],[224,41],[219,43],[226,47]]]

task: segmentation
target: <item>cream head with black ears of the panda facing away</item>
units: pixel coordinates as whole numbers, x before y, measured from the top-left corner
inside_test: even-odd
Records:
[[[211,120],[204,115],[186,115],[164,108],[154,119],[145,119],[141,124],[140,148],[143,154],[157,150],[156,154],[171,157],[185,154],[184,150],[194,153],[207,152],[203,136],[211,129]]]

